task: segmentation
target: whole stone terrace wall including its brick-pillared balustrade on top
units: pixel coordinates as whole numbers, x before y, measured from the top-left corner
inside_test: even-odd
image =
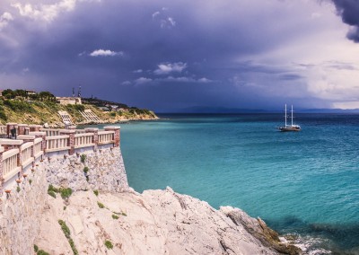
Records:
[[[12,125],[10,123],[7,129],[10,130]],[[115,131],[110,131],[112,129]],[[29,136],[22,136],[26,141],[0,139],[5,146],[0,146],[0,255],[33,254],[40,217],[49,198],[49,184],[73,191],[121,192],[130,189],[119,148],[119,128],[109,127],[100,132],[97,128],[65,131],[71,136],[47,137],[46,132],[34,130],[32,135],[30,132]],[[42,140],[38,138],[36,141],[37,135]],[[64,137],[66,143],[62,141]],[[19,148],[13,149],[14,143]],[[22,153],[28,147],[31,151]],[[16,156],[10,165],[11,178],[2,171],[5,150],[12,150],[11,155]]]

